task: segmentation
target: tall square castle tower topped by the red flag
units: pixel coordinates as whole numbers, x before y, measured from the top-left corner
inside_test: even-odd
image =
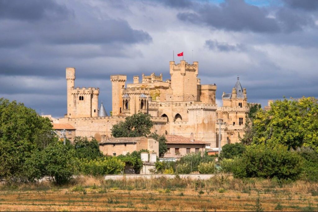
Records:
[[[170,61],[171,88],[173,101],[196,101],[197,100],[197,75],[198,62],[188,64],[181,60],[180,64]]]

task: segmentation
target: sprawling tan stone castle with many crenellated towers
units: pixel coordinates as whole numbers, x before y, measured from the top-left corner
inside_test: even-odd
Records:
[[[126,75],[111,75],[112,116],[107,116],[103,105],[98,108],[99,88],[75,88],[75,68],[66,68],[67,114],[59,123],[74,126],[77,136],[103,141],[111,137],[113,124],[141,112],[152,116],[152,131],[158,134],[209,142],[213,148],[218,147],[221,126],[221,145],[239,142],[249,112],[239,78],[232,93],[223,93],[223,106],[218,107],[217,86],[201,85],[198,62],[170,61],[169,67],[171,79],[165,81],[162,74],[152,73],[142,74],[141,79],[134,76],[133,83],[126,84]]]

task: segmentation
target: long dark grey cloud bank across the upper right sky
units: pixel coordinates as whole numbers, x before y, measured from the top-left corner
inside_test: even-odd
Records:
[[[274,13],[271,8],[260,8],[244,0],[225,0],[219,6],[202,4],[193,11],[178,13],[177,17],[216,29],[258,33],[294,32],[314,25],[312,17],[304,12],[280,8],[274,13],[276,17],[270,16],[271,13]]]

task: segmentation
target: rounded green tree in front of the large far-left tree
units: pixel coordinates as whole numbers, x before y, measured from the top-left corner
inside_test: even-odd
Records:
[[[48,175],[56,184],[64,184],[73,175],[74,150],[60,141],[52,143],[42,151],[35,150],[26,160],[25,169],[29,180]]]

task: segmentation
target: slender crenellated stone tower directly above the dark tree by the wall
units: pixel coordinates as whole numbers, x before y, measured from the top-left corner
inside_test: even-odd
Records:
[[[120,116],[122,113],[122,89],[127,81],[126,75],[111,75],[112,82],[112,113],[113,116]]]

